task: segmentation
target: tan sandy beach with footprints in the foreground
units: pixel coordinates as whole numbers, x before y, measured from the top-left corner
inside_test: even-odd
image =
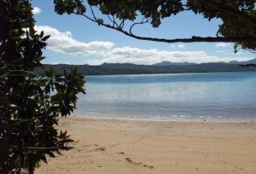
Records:
[[[256,123],[67,117],[75,140],[36,174],[256,173]]]

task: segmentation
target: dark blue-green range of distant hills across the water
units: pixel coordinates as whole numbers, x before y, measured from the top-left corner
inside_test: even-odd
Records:
[[[70,71],[74,67],[78,67],[78,71],[83,75],[141,75],[141,74],[181,74],[181,73],[213,73],[213,72],[241,72],[256,71],[256,67],[242,67],[243,64],[256,63],[256,59],[249,61],[229,63],[170,63],[167,62],[157,65],[135,65],[129,63],[103,63],[99,66],[90,65],[49,65],[45,64],[45,69],[53,67],[58,74],[62,74],[63,70]],[[162,65],[162,66],[161,66]],[[35,73],[42,74],[43,68],[37,68]]]

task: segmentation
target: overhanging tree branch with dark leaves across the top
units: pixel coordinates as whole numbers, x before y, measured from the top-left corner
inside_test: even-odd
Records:
[[[235,43],[235,52],[239,48],[256,51],[256,0],[87,0],[87,4],[80,0],[54,0],[54,4],[58,14],[82,15],[100,26],[136,39],[163,43],[227,42]],[[86,6],[89,6],[91,15]],[[96,16],[94,9],[107,15],[107,18]],[[162,19],[186,11],[202,14],[206,20],[222,20],[216,36],[165,39],[136,36],[132,31],[135,26],[145,23],[158,28]]]

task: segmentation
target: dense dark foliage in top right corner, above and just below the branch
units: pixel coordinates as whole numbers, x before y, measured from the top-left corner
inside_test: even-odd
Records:
[[[188,0],[187,6],[194,13],[200,13],[208,20],[221,19],[217,36],[256,37],[255,0]],[[235,44],[244,50],[256,51],[256,42],[246,41]]]

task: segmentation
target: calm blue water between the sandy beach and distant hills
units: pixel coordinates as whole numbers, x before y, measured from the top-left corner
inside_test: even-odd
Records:
[[[256,120],[256,72],[86,76],[76,114]]]

